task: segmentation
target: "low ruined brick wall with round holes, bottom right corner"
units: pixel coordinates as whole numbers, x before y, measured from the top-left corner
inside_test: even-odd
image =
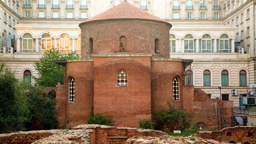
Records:
[[[203,139],[213,139],[227,143],[256,143],[256,127],[236,126],[220,131],[197,131],[197,136]]]

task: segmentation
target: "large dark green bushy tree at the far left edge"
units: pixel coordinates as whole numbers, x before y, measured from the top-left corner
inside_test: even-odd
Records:
[[[0,64],[0,133],[25,130],[28,121],[26,86],[4,63]]]

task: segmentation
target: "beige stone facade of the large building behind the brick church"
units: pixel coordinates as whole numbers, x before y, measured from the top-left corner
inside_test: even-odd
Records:
[[[0,47],[3,46],[3,32],[6,37],[15,35],[17,41],[17,52],[1,54],[0,60],[15,69],[19,78],[23,78],[26,70],[37,76],[33,63],[39,60],[44,50],[55,47],[60,52],[80,53],[78,24],[121,2],[123,0],[0,0]],[[221,94],[227,94],[234,106],[239,106],[240,95],[254,90],[249,85],[256,83],[255,0],[128,2],[173,25],[169,32],[172,36],[170,58],[194,60],[191,64],[194,87],[201,88],[211,98],[220,96],[218,86],[222,84],[221,73],[226,70],[228,86],[222,87]],[[49,37],[43,38],[45,34]],[[45,47],[42,46],[43,39],[48,44],[45,49],[42,48]],[[32,46],[26,46],[30,40]],[[244,54],[235,51],[235,42],[241,42]],[[210,72],[208,86],[204,86],[205,70]],[[241,70],[246,72],[246,86],[240,86]],[[232,96],[232,89],[237,89],[236,96]]]

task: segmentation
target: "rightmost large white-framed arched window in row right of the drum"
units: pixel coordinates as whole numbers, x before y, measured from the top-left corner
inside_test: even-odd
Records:
[[[222,34],[217,41],[217,52],[231,53],[231,44],[231,39],[228,38],[228,35]]]

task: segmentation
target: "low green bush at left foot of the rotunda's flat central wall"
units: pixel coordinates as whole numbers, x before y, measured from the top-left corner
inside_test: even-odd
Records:
[[[91,114],[89,115],[89,119],[88,119],[88,124],[112,126],[113,122],[114,122],[113,116],[110,116],[108,114],[102,115],[99,112],[95,115],[92,107]]]

